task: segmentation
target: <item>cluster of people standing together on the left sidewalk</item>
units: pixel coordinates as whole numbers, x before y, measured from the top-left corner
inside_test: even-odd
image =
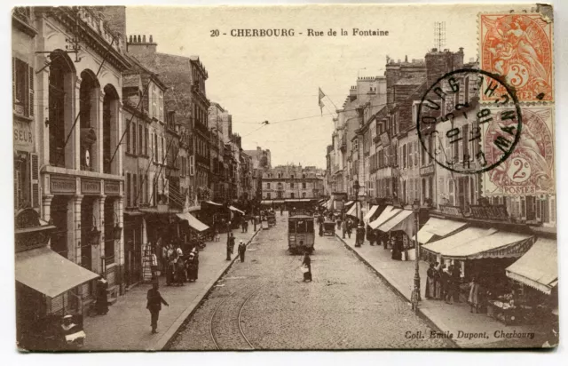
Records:
[[[199,251],[193,247],[184,256],[181,245],[174,247],[168,244],[163,248],[163,268],[166,275],[166,285],[183,286],[185,282],[195,282],[199,273]],[[154,271],[153,271],[154,272]]]

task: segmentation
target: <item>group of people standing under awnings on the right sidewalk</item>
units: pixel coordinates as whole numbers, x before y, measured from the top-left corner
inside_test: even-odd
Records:
[[[434,262],[430,263],[430,267],[426,271],[426,275],[426,298],[444,300],[447,304],[460,302],[460,267],[454,265],[446,267],[445,264]],[[474,305],[476,311],[478,310],[478,305],[479,303],[476,295]]]

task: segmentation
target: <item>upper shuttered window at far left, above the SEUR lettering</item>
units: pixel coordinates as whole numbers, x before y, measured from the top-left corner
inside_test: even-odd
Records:
[[[17,115],[34,115],[34,69],[12,57],[12,109]]]

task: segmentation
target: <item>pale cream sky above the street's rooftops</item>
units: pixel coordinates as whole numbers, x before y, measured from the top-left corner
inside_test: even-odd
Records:
[[[325,168],[334,104],[343,105],[358,76],[383,75],[387,55],[423,59],[435,44],[436,21],[446,22],[445,48],[463,47],[465,61],[477,59],[477,13],[486,11],[486,4],[127,7],[126,31],[152,35],[158,52],[199,56],[209,73],[207,96],[233,115],[243,148],[270,149],[272,165]],[[230,36],[239,28],[293,28],[296,36]],[[349,36],[307,36],[309,28],[326,35],[343,28]],[[352,36],[352,28],[389,36]],[[219,36],[211,36],[216,29]],[[318,88],[328,97],[323,115]]]

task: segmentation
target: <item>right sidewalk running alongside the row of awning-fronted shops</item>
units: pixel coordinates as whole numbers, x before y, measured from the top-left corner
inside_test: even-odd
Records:
[[[373,267],[375,271],[383,277],[390,286],[397,290],[408,302],[414,287],[414,261],[398,261],[390,259],[390,250],[385,250],[383,246],[370,246],[366,241],[359,248],[355,248],[355,235],[351,239],[342,239],[341,232],[336,232],[337,237],[352,251],[355,251],[359,258]],[[469,312],[467,303],[446,304],[443,300],[430,300],[424,298],[426,287],[426,271],[428,263],[420,261],[420,279],[422,301],[419,305],[419,312],[430,320],[438,330],[454,334],[454,342],[460,347],[485,348],[485,347],[521,347],[533,346],[540,347],[544,343],[545,330],[538,326],[531,325],[505,325],[494,320],[486,314],[472,314]],[[504,334],[511,335],[512,338],[503,338]],[[458,338],[458,333],[484,333],[486,337],[470,339],[467,336]],[[534,333],[533,339],[519,338],[518,333]],[[461,334],[462,334],[461,333]],[[495,333],[499,333],[495,336]],[[463,334],[462,334],[463,335]],[[517,337],[515,337],[517,335]],[[510,337],[510,336],[509,336]]]

